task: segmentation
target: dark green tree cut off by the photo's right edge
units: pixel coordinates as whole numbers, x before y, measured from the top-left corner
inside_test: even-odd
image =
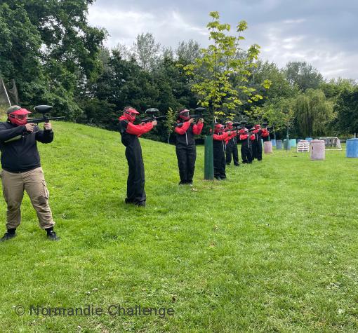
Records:
[[[337,114],[336,128],[343,134],[357,134],[358,87],[343,90],[338,96],[334,111]]]

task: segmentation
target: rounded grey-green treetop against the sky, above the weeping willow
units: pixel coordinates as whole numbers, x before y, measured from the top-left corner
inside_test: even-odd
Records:
[[[316,89],[323,82],[323,76],[307,62],[289,62],[284,69],[286,79],[291,86],[298,86],[302,91]]]

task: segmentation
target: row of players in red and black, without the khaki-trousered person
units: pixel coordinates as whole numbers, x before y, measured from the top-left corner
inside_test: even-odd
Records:
[[[152,130],[157,125],[157,121],[154,120],[149,123],[135,125],[134,121],[138,114],[139,112],[133,107],[125,107],[123,114],[119,117],[119,132],[121,133],[121,142],[126,147],[126,158],[128,161],[127,196],[125,202],[144,207],[146,203],[144,189],[145,170],[138,137]],[[237,153],[238,140],[241,142],[242,163],[252,163],[253,158],[261,161],[263,151],[261,137],[263,137],[264,141],[270,140],[270,133],[266,128],[260,128],[260,125],[255,125],[255,128],[251,130],[248,130],[246,127],[235,130],[232,124],[232,121],[227,121],[226,126],[221,124],[214,126],[213,166],[214,177],[218,180],[226,178],[225,166],[230,164],[231,156],[233,156],[234,165],[239,165]],[[203,118],[200,118],[195,123],[194,118],[190,118],[189,110],[182,109],[178,111],[174,131],[180,185],[192,185],[195,161],[197,159],[194,137],[201,134],[203,126]]]

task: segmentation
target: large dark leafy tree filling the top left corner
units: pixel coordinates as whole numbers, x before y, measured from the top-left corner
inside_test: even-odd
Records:
[[[106,36],[104,29],[88,25],[92,3],[1,2],[0,67],[7,81],[15,79],[22,104],[53,104],[72,119],[81,113],[77,98],[98,77],[98,53]]]

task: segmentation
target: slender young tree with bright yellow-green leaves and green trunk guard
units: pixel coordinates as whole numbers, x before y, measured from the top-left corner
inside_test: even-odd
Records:
[[[248,95],[248,102],[262,98],[254,94],[255,89],[247,88],[244,84],[234,87],[232,76],[239,76],[240,81],[248,81],[250,68],[255,67],[260,46],[253,44],[246,53],[241,52],[239,42],[244,39],[241,32],[247,29],[245,21],[239,22],[237,32],[239,36],[227,35],[230,25],[221,24],[218,12],[209,14],[212,21],[208,23],[209,39],[213,41],[208,48],[201,49],[201,57],[197,57],[192,64],[184,67],[185,74],[192,78],[192,91],[199,97],[202,107],[211,109],[211,116],[224,118],[234,116],[234,109],[242,104],[238,90]],[[264,81],[265,88],[270,87],[269,81]],[[213,123],[211,129],[213,128]],[[213,179],[213,138],[206,137],[205,179]]]

